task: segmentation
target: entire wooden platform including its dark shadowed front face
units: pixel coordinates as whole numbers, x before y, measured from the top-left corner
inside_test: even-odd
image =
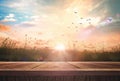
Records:
[[[120,63],[0,62],[0,81],[120,81]]]

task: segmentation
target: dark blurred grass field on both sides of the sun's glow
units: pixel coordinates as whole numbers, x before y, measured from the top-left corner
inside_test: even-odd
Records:
[[[16,43],[6,38],[0,46],[0,61],[52,61],[54,58],[50,60],[49,56],[55,57],[57,54],[52,51],[49,48],[16,48]],[[66,50],[66,52],[71,56],[67,61],[120,61],[120,46],[112,48],[111,51]]]

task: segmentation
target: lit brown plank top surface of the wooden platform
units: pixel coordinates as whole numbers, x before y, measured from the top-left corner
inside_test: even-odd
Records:
[[[120,71],[120,62],[0,62],[0,71]]]

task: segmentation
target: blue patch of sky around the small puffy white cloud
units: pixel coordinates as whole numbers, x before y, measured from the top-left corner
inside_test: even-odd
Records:
[[[18,10],[17,8],[10,6],[10,4],[12,5],[14,2],[16,2],[16,0],[0,0],[0,20],[4,20],[9,14],[14,14],[14,19],[16,20],[15,22],[9,21],[2,23],[11,25],[29,20],[29,18],[25,16],[30,16],[32,13],[28,10]]]

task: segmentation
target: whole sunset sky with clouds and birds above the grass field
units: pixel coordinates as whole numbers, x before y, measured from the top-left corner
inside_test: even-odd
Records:
[[[73,43],[120,42],[120,0],[0,0],[0,36]],[[35,41],[35,43],[33,43]],[[37,42],[36,42],[37,41]]]

